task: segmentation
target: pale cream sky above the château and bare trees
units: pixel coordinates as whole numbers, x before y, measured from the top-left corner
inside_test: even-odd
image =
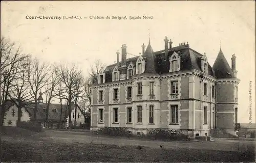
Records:
[[[63,16],[82,19],[63,19]],[[90,16],[105,19],[90,19]],[[106,16],[127,19],[106,19]],[[141,19],[130,20],[130,16]],[[142,19],[143,16],[153,19]],[[221,46],[230,67],[231,56],[237,57],[237,77],[241,80],[239,122],[249,122],[250,81],[255,122],[254,1],[1,1],[1,36],[42,61],[75,63],[85,75],[96,59],[114,64],[116,51],[121,51],[122,44],[126,44],[127,52],[139,55],[141,45],[147,45],[149,37],[154,51],[164,49],[165,36],[172,39],[173,46],[188,42],[190,48],[206,53],[211,66]]]

